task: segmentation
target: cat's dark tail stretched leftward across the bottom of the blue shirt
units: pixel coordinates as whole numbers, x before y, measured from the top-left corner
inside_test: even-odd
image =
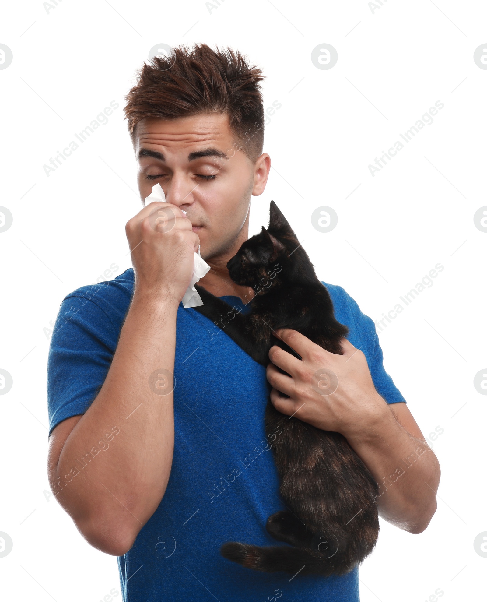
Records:
[[[265,573],[285,571],[291,575],[321,574],[329,577],[349,573],[355,565],[352,561],[352,565],[348,566],[348,559],[343,554],[323,557],[312,550],[288,545],[260,547],[231,541],[222,545],[220,553],[228,560]]]

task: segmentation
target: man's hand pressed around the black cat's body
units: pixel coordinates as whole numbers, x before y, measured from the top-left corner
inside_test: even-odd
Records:
[[[278,346],[269,350],[267,380],[273,387],[270,397],[275,408],[344,436],[370,430],[371,423],[383,415],[386,402],[374,387],[364,353],[346,338],[341,341],[344,355],[337,355],[296,330],[282,329],[276,334],[302,359]]]

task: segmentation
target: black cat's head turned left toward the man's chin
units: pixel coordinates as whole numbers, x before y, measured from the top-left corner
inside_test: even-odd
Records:
[[[296,234],[274,201],[270,203],[269,214],[268,228],[262,226],[262,231],[246,240],[226,264],[235,284],[252,287],[256,294],[291,282],[303,261],[312,270]]]

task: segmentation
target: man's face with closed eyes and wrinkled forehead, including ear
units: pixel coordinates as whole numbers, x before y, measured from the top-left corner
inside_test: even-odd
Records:
[[[144,119],[136,134],[141,198],[159,183],[166,201],[187,212],[202,257],[232,256],[247,238],[250,197],[264,191],[269,156],[253,164],[226,114]]]

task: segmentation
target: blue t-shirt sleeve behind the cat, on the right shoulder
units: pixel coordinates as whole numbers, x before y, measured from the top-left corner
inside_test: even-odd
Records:
[[[383,365],[383,353],[379,344],[379,335],[377,335],[374,321],[372,318],[368,317],[368,315],[362,313],[358,303],[352,299],[343,288],[341,290],[346,296],[346,302],[349,305],[356,329],[357,340],[361,342],[362,351],[367,358],[370,375],[377,393],[379,393],[387,403],[406,402],[402,393],[397,386],[394,385],[391,376],[385,371]],[[358,347],[359,345],[355,344],[355,346]]]

